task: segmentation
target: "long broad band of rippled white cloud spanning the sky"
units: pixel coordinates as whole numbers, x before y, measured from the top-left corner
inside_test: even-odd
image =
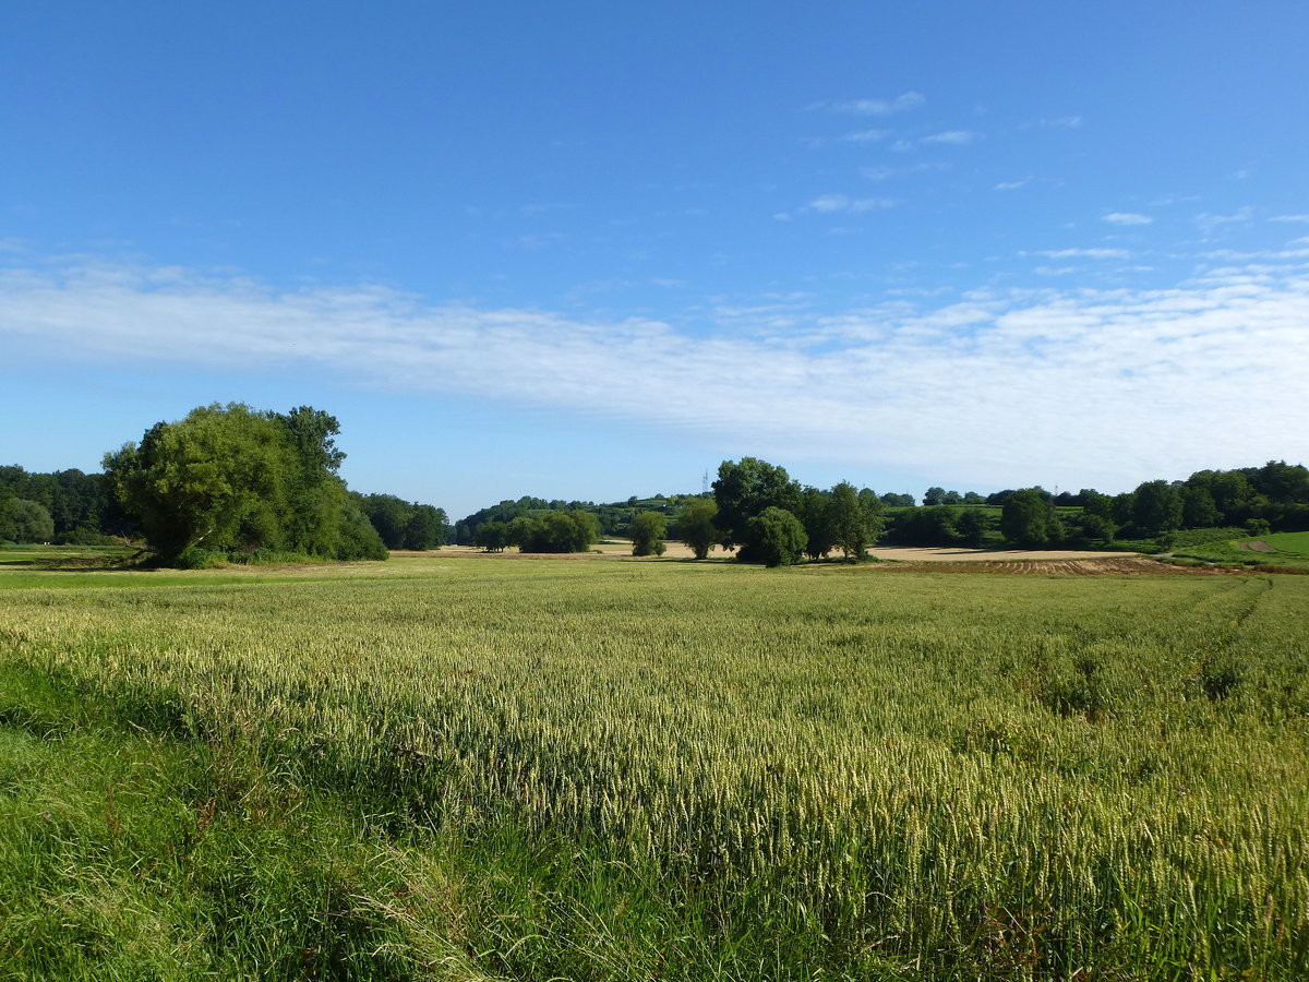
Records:
[[[796,461],[920,473],[948,461],[1000,486],[1114,490],[1309,458],[1297,426],[1309,263],[1229,266],[1169,289],[992,288],[843,312],[819,301],[721,302],[708,330],[690,330],[377,287],[30,263],[0,271],[0,343],[27,364],[308,372],[505,401]],[[597,384],[613,378],[623,384]]]

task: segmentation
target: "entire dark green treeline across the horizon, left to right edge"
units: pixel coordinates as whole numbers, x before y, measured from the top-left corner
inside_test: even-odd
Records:
[[[387,550],[448,541],[490,551],[576,553],[606,536],[631,538],[637,555],[681,538],[704,558],[715,546],[746,562],[781,566],[840,553],[861,558],[877,542],[912,546],[1111,547],[1179,532],[1249,534],[1309,529],[1309,470],[1202,470],[1106,495],[1094,488],[975,491],[931,487],[877,495],[842,482],[801,486],[755,457],[724,461],[712,495],[654,495],[594,504],[524,496],[483,508],[453,528],[442,509],[386,494],[350,491],[338,475],[335,418],[309,406],[289,412],[242,403],[203,406],[156,423],[140,441],[105,456],[105,473],[27,473],[0,466],[0,541],[96,545],[144,539],[165,564],[221,556],[381,559]]]

